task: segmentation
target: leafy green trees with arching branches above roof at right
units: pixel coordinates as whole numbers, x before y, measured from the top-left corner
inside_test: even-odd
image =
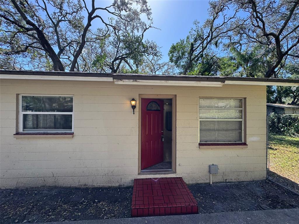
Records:
[[[218,68],[221,76],[280,78],[291,60],[299,64],[298,1],[214,0],[209,5],[208,18],[201,24],[195,20],[187,37],[169,50],[179,73],[213,75]],[[204,65],[211,51],[219,58],[215,67]]]

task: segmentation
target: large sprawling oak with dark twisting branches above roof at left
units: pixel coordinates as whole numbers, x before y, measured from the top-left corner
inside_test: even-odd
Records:
[[[103,71],[117,72],[127,59],[138,60],[138,53],[150,55],[155,51],[149,48],[156,45],[143,38],[152,27],[147,1],[97,4],[94,0],[1,0],[1,67],[90,71],[93,61],[113,55],[109,62],[103,60],[110,63]],[[92,29],[92,24],[99,28]],[[105,49],[107,46],[113,50]]]

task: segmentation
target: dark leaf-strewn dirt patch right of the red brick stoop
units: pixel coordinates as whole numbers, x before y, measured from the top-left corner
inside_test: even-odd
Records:
[[[188,185],[199,213],[299,208],[299,195],[263,180]]]

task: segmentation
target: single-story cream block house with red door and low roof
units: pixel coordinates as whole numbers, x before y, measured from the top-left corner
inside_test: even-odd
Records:
[[[266,85],[299,80],[0,71],[1,188],[266,178]]]

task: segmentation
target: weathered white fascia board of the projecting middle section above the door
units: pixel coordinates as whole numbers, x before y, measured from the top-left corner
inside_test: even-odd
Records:
[[[173,86],[214,86],[222,87],[223,82],[201,82],[201,81],[170,81],[170,80],[136,80],[124,79],[114,80],[115,84],[126,85],[173,85]]]

